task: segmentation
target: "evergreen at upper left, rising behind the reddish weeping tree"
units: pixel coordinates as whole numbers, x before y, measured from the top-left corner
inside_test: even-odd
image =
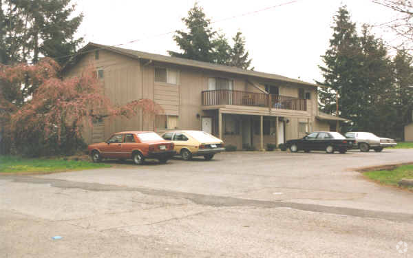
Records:
[[[83,42],[74,39],[83,19],[82,14],[72,17],[74,8],[70,0],[0,0],[0,62],[37,63],[41,56],[74,54]]]

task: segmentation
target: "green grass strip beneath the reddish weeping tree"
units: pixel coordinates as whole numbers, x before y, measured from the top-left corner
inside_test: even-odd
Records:
[[[0,173],[50,173],[109,167],[109,164],[61,159],[26,159],[0,156]]]

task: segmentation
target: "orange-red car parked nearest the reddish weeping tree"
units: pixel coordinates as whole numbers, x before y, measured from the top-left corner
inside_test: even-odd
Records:
[[[173,151],[173,142],[162,139],[153,131],[114,133],[106,142],[90,144],[87,151],[93,162],[100,162],[103,158],[114,158],[132,159],[135,164],[142,164],[145,158],[154,158],[165,163],[176,155],[176,151]]]

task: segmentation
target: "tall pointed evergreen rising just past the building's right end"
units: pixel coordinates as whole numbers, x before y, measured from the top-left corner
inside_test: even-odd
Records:
[[[363,103],[361,82],[357,71],[361,67],[362,50],[355,23],[350,21],[346,6],[339,8],[334,17],[333,34],[330,48],[321,56],[326,67],[319,66],[324,76],[324,86],[319,89],[321,111],[328,114],[336,112],[336,95],[339,96],[339,114],[344,118],[357,120]]]

